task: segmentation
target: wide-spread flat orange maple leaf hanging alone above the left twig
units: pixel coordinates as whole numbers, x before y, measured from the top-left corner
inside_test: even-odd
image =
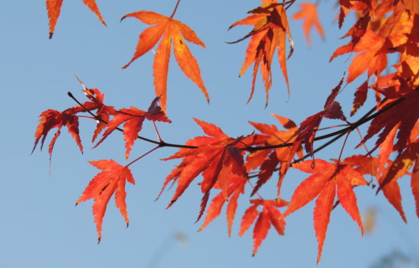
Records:
[[[161,96],[160,102],[163,111],[166,112],[166,89],[172,43],[177,64],[186,77],[189,77],[203,91],[207,101],[210,101],[210,96],[208,96],[207,89],[200,75],[198,61],[193,57],[184,40],[186,39],[191,43],[205,47],[195,32],[182,22],[179,22],[179,20],[174,20],[172,17],[166,17],[151,11],[129,13],[122,17],[121,20],[124,20],[126,17],[135,17],[141,22],[150,25],[156,24],[142,31],[133,58],[122,68],[128,67],[135,59],[149,52],[161,40],[154,56],[153,75],[156,96]]]

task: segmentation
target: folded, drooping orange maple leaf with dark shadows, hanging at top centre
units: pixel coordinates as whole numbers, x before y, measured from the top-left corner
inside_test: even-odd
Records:
[[[288,27],[288,20],[284,5],[274,0],[262,0],[262,2],[262,6],[248,12],[252,15],[235,22],[229,29],[237,25],[253,25],[254,28],[249,32],[249,34],[235,42],[230,43],[238,43],[251,37],[249,46],[247,47],[246,57],[244,58],[244,64],[240,69],[239,77],[242,76],[244,72],[246,72],[247,68],[254,63],[251,94],[249,96],[249,100],[247,101],[247,103],[249,103],[253,96],[256,76],[260,67],[260,73],[262,73],[262,79],[265,83],[267,105],[269,99],[268,93],[272,87],[272,57],[274,56],[276,49],[278,49],[279,65],[281,66],[289,94],[288,75],[286,72],[285,42],[286,36],[288,35],[288,39],[291,44],[291,52],[288,56],[290,57],[293,51],[293,39],[291,38],[291,31]]]

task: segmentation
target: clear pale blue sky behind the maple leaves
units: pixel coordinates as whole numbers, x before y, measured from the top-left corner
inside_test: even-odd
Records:
[[[175,152],[170,148],[159,149],[133,165],[136,184],[126,186],[130,226],[125,228],[124,219],[111,200],[104,218],[103,239],[97,245],[92,202],[78,207],[74,204],[98,172],[87,161],[112,158],[126,163],[122,135],[115,133],[91,150],[89,140],[94,122],[80,119],[84,154],[80,154],[66,130],[62,131],[55,144],[49,174],[46,148],[42,153],[36,149],[30,155],[38,115],[47,109],[65,110],[75,105],[67,91],[84,101],[82,88],[73,73],[87,87],[101,89],[109,105],[147,109],[154,98],[154,55],[149,52],[126,70],[121,69],[131,59],[138,35],[146,25],[132,18],[122,23],[119,20],[138,10],[170,15],[175,1],[98,0],[97,3],[108,27],[103,27],[82,1],[64,1],[54,38],[48,40],[45,1],[1,2],[0,267],[315,267],[314,202],[287,218],[284,237],[271,229],[253,258],[251,231],[244,237],[237,236],[241,216],[249,206],[248,195],[240,199],[231,238],[227,237],[224,213],[206,230],[196,232],[200,223],[194,221],[202,197],[196,183],[168,210],[165,208],[172,191],[166,191],[161,200],[154,202],[163,180],[178,163],[159,161]],[[200,64],[211,103],[207,105],[200,89],[183,75],[172,57],[168,77],[168,117],[172,124],[158,125],[166,142],[184,143],[202,135],[192,117],[210,121],[234,137],[253,131],[247,121],[276,124],[270,113],[289,117],[299,124],[322,109],[330,89],[339,82],[350,63],[349,56],[339,57],[332,63],[328,59],[336,47],[346,43],[338,38],[346,33],[353,19],[348,19],[339,31],[333,21],[337,14],[333,9],[335,1],[322,1],[319,12],[326,40],[312,33],[313,45],[309,50],[302,35],[302,23],[292,21],[295,52],[288,61],[291,97],[288,99],[275,60],[270,105],[264,107],[265,92],[260,80],[253,100],[245,105],[251,73],[240,79],[237,75],[248,42],[228,45],[225,41],[237,40],[251,28],[226,30],[259,4],[256,0],[183,0],[180,3],[175,18],[188,24],[207,45],[205,50],[193,44],[189,47]],[[295,13],[296,8],[297,3],[288,14]],[[351,110],[355,87],[364,79],[348,85],[338,96],[346,114]],[[324,126],[336,123],[328,121]],[[142,135],[156,137],[152,124],[145,124]],[[337,158],[342,142],[339,140],[316,156]],[[352,148],[358,142],[358,135],[351,135],[344,154],[357,153]],[[131,160],[151,148],[151,144],[136,142]],[[359,150],[357,154],[363,153]],[[307,174],[289,172],[284,182],[284,198],[289,200],[293,189],[306,177]],[[267,198],[274,197],[276,192],[275,179],[271,182],[261,191]],[[402,222],[381,193],[376,196],[370,188],[356,189],[361,212],[370,207],[378,210],[377,228],[361,237],[358,226],[337,207],[332,211],[323,258],[317,267],[371,267],[393,251],[409,255],[418,265],[419,221],[409,179],[402,178],[399,182],[409,224]],[[186,243],[179,243],[175,238],[179,233],[186,237]],[[411,263],[405,267],[416,266]]]

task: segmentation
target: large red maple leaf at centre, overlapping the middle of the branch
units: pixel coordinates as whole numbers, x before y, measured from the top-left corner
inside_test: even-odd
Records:
[[[245,147],[244,137],[228,137],[214,124],[198,119],[194,120],[203,128],[205,134],[211,137],[195,137],[188,140],[186,145],[198,148],[181,148],[173,156],[163,160],[183,158],[182,163],[168,177],[170,180],[177,180],[177,188],[168,207],[176,202],[193,179],[196,179],[200,173],[203,174],[200,186],[204,195],[197,220],[199,221],[205,211],[212,188],[221,189],[223,198],[227,200],[228,185],[231,183],[231,179],[236,176],[247,179],[248,175],[243,163],[244,151],[241,149]],[[168,179],[166,179],[166,185]]]

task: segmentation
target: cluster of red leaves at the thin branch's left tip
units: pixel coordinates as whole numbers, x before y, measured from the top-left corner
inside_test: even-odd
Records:
[[[139,110],[135,107],[131,107],[131,109],[115,110],[114,107],[103,103],[105,95],[102,94],[101,91],[98,89],[87,89],[87,87],[85,87],[80,80],[79,82],[84,88],[84,94],[90,101],[68,108],[63,112],[59,112],[57,110],[46,110],[43,112],[40,115],[40,123],[36,128],[34,149],[40,140],[42,149],[47,134],[53,128],[57,128],[57,132],[54,137],[52,137],[49,145],[49,153],[51,157],[52,149],[54,148],[54,144],[61,133],[61,128],[66,126],[68,128],[68,132],[71,133],[72,137],[77,142],[78,147],[80,147],[80,151],[82,151],[83,147],[79,135],[80,115],[78,114],[80,112],[89,112],[93,114],[92,112],[96,110],[96,114],[93,114],[94,117],[90,117],[91,119],[95,119],[97,121],[96,129],[91,142],[94,142],[101,131],[105,129],[101,140],[99,140],[95,147],[97,147],[98,144],[101,144],[101,142],[103,142],[103,140],[105,140],[105,138],[108,137],[112,131],[115,131],[120,124],[124,123],[124,129],[119,128],[119,130],[124,133],[124,140],[126,141],[126,158],[129,156],[129,152],[131,151],[134,141],[138,138],[138,133],[141,131],[142,124],[145,119],[153,122],[163,121],[170,123],[170,120],[166,117],[166,114],[158,105],[159,97],[156,97],[154,101],[152,101],[152,105],[150,105],[147,112]],[[34,149],[32,151],[34,151]],[[96,223],[96,230],[98,232],[98,241],[101,241],[103,216],[105,215],[108,202],[114,193],[115,203],[128,225],[128,214],[126,212],[125,203],[125,182],[128,181],[131,184],[134,184],[135,181],[133,175],[131,174],[131,170],[128,168],[132,162],[125,166],[119,165],[113,160],[90,161],[89,163],[94,165],[96,168],[103,170],[103,172],[98,173],[96,177],[91,179],[89,185],[84,190],[83,195],[79,198],[76,205],[80,202],[94,199],[92,212],[94,214],[94,222]]]

